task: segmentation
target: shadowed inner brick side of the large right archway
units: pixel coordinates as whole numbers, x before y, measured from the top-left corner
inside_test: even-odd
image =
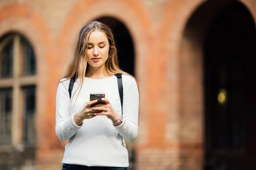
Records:
[[[205,41],[205,36],[207,35],[212,22],[220,14],[220,10],[225,10],[228,6],[233,3],[239,3],[241,6],[244,4],[239,1],[234,2],[222,2],[222,1],[209,1],[203,3],[197,8],[197,10],[192,14],[186,23],[185,29],[183,31],[183,37],[180,42],[179,54],[179,76],[180,76],[180,114],[183,116],[188,116],[188,114],[193,114],[197,118],[195,120],[196,125],[187,128],[188,131],[183,131],[181,127],[181,136],[179,136],[180,142],[195,141],[197,144],[203,143],[203,43]],[[246,8],[246,6],[244,6]],[[209,10],[211,9],[211,10]],[[253,17],[248,11],[249,20],[253,21]],[[248,17],[246,16],[246,17]],[[199,21],[204,20],[205,22],[198,24]],[[239,19],[238,19],[239,20]],[[253,25],[252,25],[253,26]],[[254,28],[249,28],[247,31],[254,31]],[[185,106],[184,106],[185,105]],[[188,106],[188,107],[186,107]],[[191,121],[189,119],[188,121]],[[186,122],[183,122],[186,124]],[[180,125],[183,125],[180,122]],[[188,125],[188,124],[186,124]],[[183,139],[183,137],[190,133],[189,130],[194,129],[194,137]],[[197,129],[197,130],[196,130]],[[184,136],[183,136],[184,135]],[[182,137],[183,136],[183,137]]]

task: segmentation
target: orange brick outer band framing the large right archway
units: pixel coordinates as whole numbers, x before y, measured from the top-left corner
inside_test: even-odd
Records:
[[[227,2],[221,4],[222,1],[216,1],[219,6],[227,5]],[[250,13],[252,14],[254,20],[256,20],[256,11],[254,7],[256,6],[255,3],[252,3],[250,0],[240,0],[240,2],[248,8]],[[191,2],[183,2],[179,3],[176,1],[169,1],[166,4],[166,7],[163,10],[162,20],[160,24],[159,30],[160,32],[160,46],[165,47],[163,48],[162,54],[163,57],[166,57],[166,61],[168,61],[166,65],[166,69],[168,70],[169,74],[166,75],[166,78],[163,81],[164,83],[169,84],[169,87],[166,87],[166,90],[169,91],[169,96],[171,99],[171,103],[166,103],[169,105],[169,111],[173,114],[179,113],[179,103],[180,96],[177,91],[179,91],[179,79],[180,76],[180,50],[181,50],[181,43],[183,40],[183,33],[184,29],[186,28],[186,22],[192,13],[199,8],[205,2],[203,0],[195,0]],[[217,5],[218,6],[218,5]],[[212,14],[212,17],[215,15]],[[170,86],[171,85],[171,86]],[[172,115],[172,114],[170,114]],[[174,118],[174,119],[173,119]],[[168,122],[170,123],[169,127],[166,129],[166,139],[168,142],[175,143],[178,141],[178,136],[175,135],[177,133],[173,133],[173,135],[168,135],[168,132],[178,132],[177,125],[174,125],[175,122],[178,121],[178,117],[170,117]],[[173,127],[173,128],[171,128]],[[168,129],[170,128],[170,129]]]

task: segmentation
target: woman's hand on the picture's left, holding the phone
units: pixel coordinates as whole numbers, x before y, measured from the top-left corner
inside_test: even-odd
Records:
[[[90,106],[92,104],[96,103],[97,101],[98,100],[92,100],[90,102],[85,102],[84,106],[81,108],[81,110],[74,114],[73,118],[74,118],[76,125],[81,126],[84,119],[91,119],[96,116],[96,115],[94,115],[94,113],[97,113],[97,112],[95,112],[95,110],[93,110]],[[99,111],[99,112],[102,112],[102,111]]]

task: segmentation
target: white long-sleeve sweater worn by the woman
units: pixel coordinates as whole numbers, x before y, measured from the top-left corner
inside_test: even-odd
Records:
[[[105,79],[84,77],[81,93],[76,100],[78,93],[74,97],[73,94],[79,85],[79,79],[77,79],[74,83],[71,102],[68,92],[69,82],[70,80],[60,82],[56,94],[55,131],[61,141],[69,140],[65,146],[62,163],[128,167],[128,151],[122,145],[122,137],[133,141],[138,134],[139,93],[135,80],[130,76],[122,75],[125,120],[117,127],[106,116],[85,119],[81,126],[77,126],[73,119],[73,114],[80,111],[84,103],[90,100],[90,93],[105,93],[105,98],[110,101],[114,111],[121,115],[116,76]]]

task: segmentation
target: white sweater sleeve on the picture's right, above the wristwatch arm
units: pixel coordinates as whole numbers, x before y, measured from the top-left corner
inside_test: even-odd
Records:
[[[118,133],[132,142],[138,135],[139,91],[136,82],[132,82],[123,96],[123,116],[119,126],[114,126]]]

